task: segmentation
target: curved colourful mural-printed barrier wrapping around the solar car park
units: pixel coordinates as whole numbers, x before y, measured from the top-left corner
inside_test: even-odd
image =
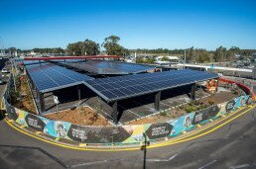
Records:
[[[166,123],[122,127],[82,127],[66,122],[53,121],[16,109],[7,100],[4,101],[4,107],[9,117],[24,127],[31,127],[54,137],[66,138],[83,143],[130,144],[143,141],[143,133],[146,133],[147,139],[149,140],[176,136],[184,130],[190,130],[198,124],[206,123],[210,119],[216,119],[239,107],[250,104],[251,98],[249,95],[240,96],[229,102],[192,112]]]

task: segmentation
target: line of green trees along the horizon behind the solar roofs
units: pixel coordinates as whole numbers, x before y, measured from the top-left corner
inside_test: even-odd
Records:
[[[33,48],[35,52],[39,53],[65,53],[68,55],[97,55],[101,54],[108,55],[121,55],[127,56],[133,53],[143,54],[143,55],[178,55],[185,59],[187,62],[220,62],[234,59],[237,55],[240,59],[244,59],[248,56],[252,56],[256,52],[256,49],[240,49],[239,47],[232,46],[226,48],[222,45],[217,47],[215,50],[206,50],[204,48],[179,48],[179,49],[169,49],[169,48],[137,48],[137,49],[127,49],[121,44],[119,44],[120,38],[117,36],[109,36],[104,39],[104,41],[99,44],[91,40],[84,40],[83,42],[72,42],[68,43],[66,48],[54,47],[54,48]],[[102,47],[102,48],[101,48]],[[15,48],[15,47],[10,47]],[[16,49],[16,48],[15,48]],[[102,50],[101,50],[102,49]],[[18,52],[29,52],[30,50],[17,49]],[[8,49],[6,50],[8,52]],[[148,62],[154,62],[153,58],[149,58]]]

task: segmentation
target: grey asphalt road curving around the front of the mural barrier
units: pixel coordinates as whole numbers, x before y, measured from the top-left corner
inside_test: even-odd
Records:
[[[0,86],[0,94],[4,86]],[[256,168],[255,111],[206,135],[144,151],[66,149],[25,135],[0,122],[0,168]]]

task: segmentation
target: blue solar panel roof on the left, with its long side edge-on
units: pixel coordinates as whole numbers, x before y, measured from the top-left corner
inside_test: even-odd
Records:
[[[82,84],[83,81],[93,79],[52,63],[29,64],[26,65],[26,69],[37,89],[42,93]]]

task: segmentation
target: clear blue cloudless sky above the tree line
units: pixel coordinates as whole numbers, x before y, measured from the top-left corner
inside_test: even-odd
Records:
[[[254,0],[1,0],[0,48],[120,37],[127,48],[256,48]]]

